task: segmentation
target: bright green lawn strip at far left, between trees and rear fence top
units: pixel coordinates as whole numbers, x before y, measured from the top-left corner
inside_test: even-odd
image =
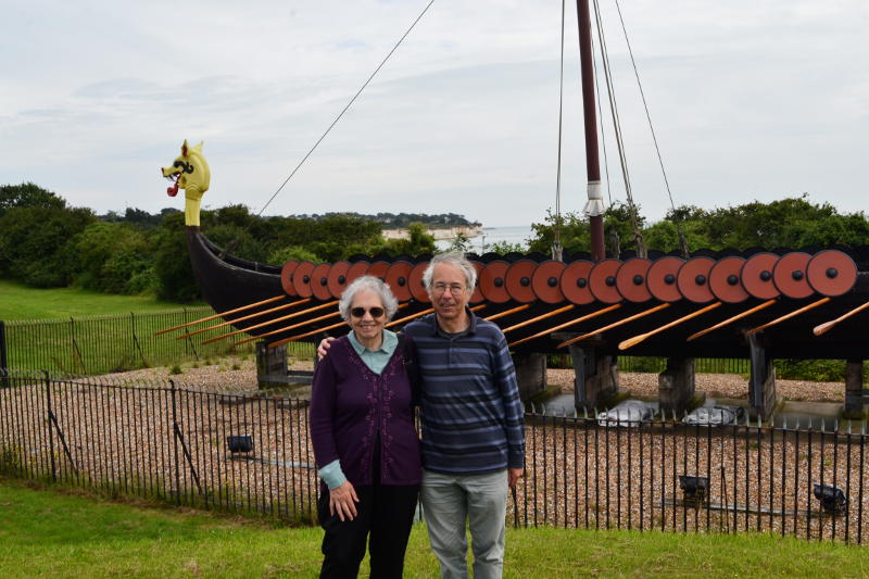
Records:
[[[144,313],[179,307],[180,304],[161,302],[148,295],[113,295],[74,288],[34,289],[0,280],[0,319],[4,320]]]

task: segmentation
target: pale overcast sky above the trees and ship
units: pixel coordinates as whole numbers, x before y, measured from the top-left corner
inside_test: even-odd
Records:
[[[599,1],[633,198],[655,222],[670,199],[615,0]],[[553,0],[434,0],[266,206],[428,2],[3,0],[0,185],[98,213],[182,209],[159,168],[188,139],[211,165],[205,209],[541,223],[558,165]],[[869,2],[618,7],[676,205],[867,209]],[[577,47],[567,2],[562,212],[585,201]],[[624,202],[608,116],[605,200]]]

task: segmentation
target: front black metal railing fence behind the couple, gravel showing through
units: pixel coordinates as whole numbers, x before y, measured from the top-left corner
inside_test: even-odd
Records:
[[[0,375],[0,470],[312,523],[307,401]],[[771,531],[864,543],[865,430],[526,413],[516,527]]]

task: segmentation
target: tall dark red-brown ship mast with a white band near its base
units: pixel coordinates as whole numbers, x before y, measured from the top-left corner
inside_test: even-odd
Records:
[[[582,75],[582,110],[585,121],[585,173],[588,197],[584,213],[591,229],[591,259],[606,257],[604,249],[604,200],[601,192],[601,163],[597,153],[597,115],[594,110],[594,62],[591,51],[589,0],[577,0],[579,15],[579,62]]]

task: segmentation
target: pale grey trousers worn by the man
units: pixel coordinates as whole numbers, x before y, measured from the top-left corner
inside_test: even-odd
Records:
[[[423,513],[444,579],[467,579],[470,528],[474,578],[495,579],[504,566],[507,471],[484,475],[423,473]]]

